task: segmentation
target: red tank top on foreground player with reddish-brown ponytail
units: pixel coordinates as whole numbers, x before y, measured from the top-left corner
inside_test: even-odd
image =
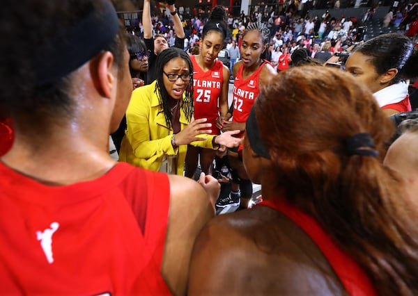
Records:
[[[283,200],[265,200],[256,206],[268,206],[286,215],[299,226],[313,240],[325,258],[330,263],[334,272],[339,277],[344,288],[353,296],[377,295],[366,272],[359,267],[357,262],[338,247],[332,238],[325,233],[320,224],[313,217],[299,211],[294,206]]]

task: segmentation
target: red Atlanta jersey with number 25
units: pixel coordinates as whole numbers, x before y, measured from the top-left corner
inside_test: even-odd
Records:
[[[224,81],[224,68],[220,60],[204,72],[196,61],[196,56],[190,56],[193,64],[193,98],[194,119],[207,118],[212,123],[212,135],[219,134],[216,128],[216,119],[219,115],[218,98],[222,92]]]

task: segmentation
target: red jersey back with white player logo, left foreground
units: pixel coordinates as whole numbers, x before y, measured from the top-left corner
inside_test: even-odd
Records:
[[[2,293],[169,295],[160,275],[169,179],[118,163],[46,186],[0,163]]]

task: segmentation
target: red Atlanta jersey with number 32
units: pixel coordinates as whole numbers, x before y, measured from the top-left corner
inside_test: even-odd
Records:
[[[254,104],[254,100],[258,96],[260,73],[263,66],[267,63],[263,60],[256,72],[251,74],[247,79],[242,79],[242,69],[244,65],[238,69],[237,76],[233,81],[233,122],[246,122],[249,111]]]

